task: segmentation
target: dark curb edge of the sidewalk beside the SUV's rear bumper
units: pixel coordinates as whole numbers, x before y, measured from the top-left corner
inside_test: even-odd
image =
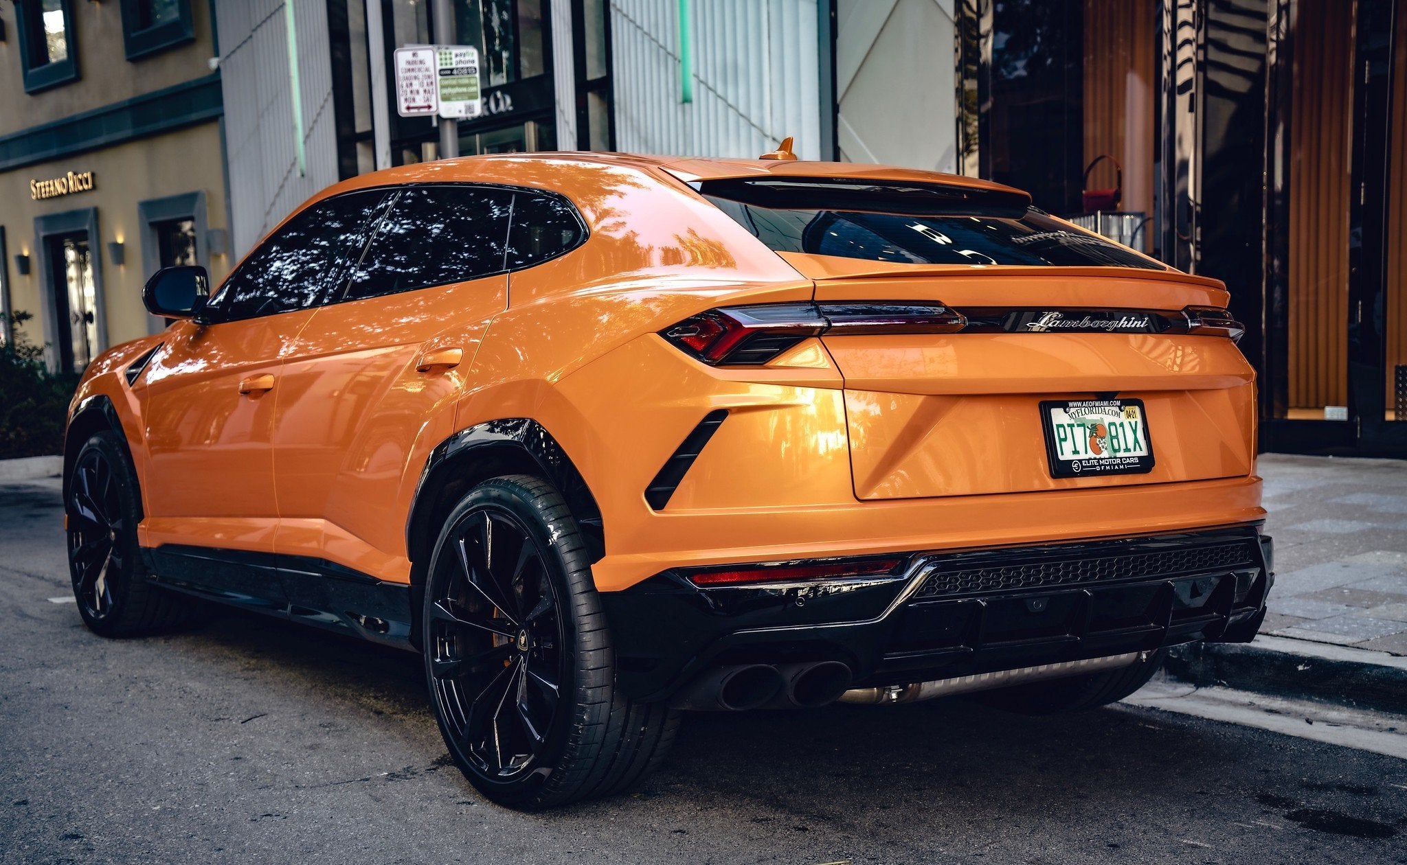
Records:
[[[1168,653],[1168,675],[1407,715],[1407,658],[1349,646],[1259,636],[1251,643],[1190,643]]]

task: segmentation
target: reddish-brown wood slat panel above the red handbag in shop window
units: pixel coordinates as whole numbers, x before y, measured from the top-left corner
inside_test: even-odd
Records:
[[[1152,215],[1154,17],[1157,4],[1085,0],[1085,165],[1109,153],[1124,166],[1120,210]],[[1100,163],[1092,188],[1113,188],[1114,167]],[[1152,248],[1154,222],[1141,249]]]

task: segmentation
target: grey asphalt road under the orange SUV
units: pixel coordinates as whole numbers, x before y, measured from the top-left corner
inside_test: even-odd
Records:
[[[0,862],[1407,862],[1407,762],[1151,709],[696,715],[543,814],[449,764],[405,653],[231,613],[108,641],[0,487]]]

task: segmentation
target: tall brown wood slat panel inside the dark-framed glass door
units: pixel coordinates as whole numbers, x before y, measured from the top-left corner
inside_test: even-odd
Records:
[[[1348,404],[1352,4],[1299,0],[1290,105],[1289,404]]]

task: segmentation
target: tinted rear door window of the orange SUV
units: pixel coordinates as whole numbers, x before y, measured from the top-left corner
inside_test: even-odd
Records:
[[[377,224],[346,300],[501,273],[512,200],[511,191],[469,186],[404,190]]]

